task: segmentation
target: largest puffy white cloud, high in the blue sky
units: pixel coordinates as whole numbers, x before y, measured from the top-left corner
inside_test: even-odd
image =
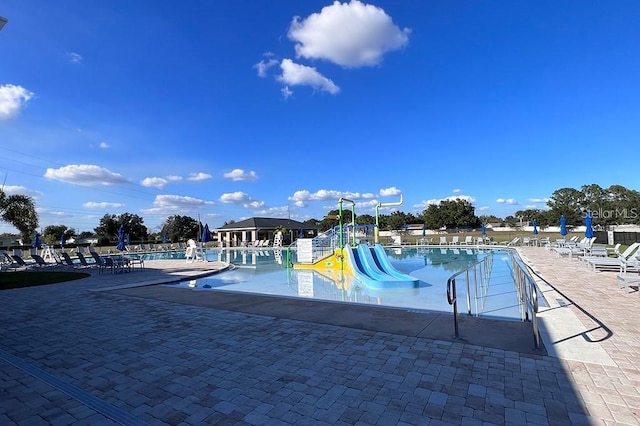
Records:
[[[288,37],[296,43],[298,57],[356,68],[377,65],[386,52],[405,46],[409,33],[383,9],[352,0],[334,1],[303,20],[293,18]]]

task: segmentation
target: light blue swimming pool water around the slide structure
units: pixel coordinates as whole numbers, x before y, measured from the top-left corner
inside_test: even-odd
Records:
[[[504,320],[523,319],[523,306],[511,270],[511,250],[403,247],[385,248],[385,252],[397,270],[419,280],[416,286],[374,289],[339,272],[332,274],[287,268],[286,252],[273,249],[210,249],[207,250],[208,260],[225,261],[234,268],[197,280],[165,285],[193,291],[258,293],[450,313],[452,307],[447,302],[447,279],[490,256],[486,285],[479,292],[471,286],[472,314]],[[172,258],[181,255],[184,257],[183,253],[177,253]],[[460,309],[466,311],[466,302],[460,302],[467,300],[464,275],[458,278],[457,297],[459,304],[464,305]]]

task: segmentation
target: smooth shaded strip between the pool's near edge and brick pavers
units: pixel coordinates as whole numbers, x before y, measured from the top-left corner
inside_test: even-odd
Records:
[[[416,312],[401,308],[218,290],[192,291],[160,285],[118,288],[105,290],[104,292],[168,303],[269,316],[275,319],[304,321],[471,344],[534,356],[547,355],[545,348],[534,348],[532,324],[530,322],[459,315],[460,338],[457,339],[454,336],[453,314],[443,312]]]

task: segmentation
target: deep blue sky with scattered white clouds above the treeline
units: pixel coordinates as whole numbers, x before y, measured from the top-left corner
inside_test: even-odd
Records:
[[[3,0],[0,172],[42,227],[640,189],[636,1]],[[389,210],[381,210],[388,213]],[[13,231],[0,224],[0,232]]]

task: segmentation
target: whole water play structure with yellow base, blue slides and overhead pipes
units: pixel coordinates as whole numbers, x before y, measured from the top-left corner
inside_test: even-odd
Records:
[[[343,223],[343,203],[351,203],[352,223]],[[369,227],[371,225],[355,224],[355,202],[340,198],[338,227],[331,232],[313,239],[298,239],[297,263],[288,265],[294,269],[311,269],[335,279],[344,275],[356,278],[370,288],[415,287],[418,279],[396,270],[382,245],[378,241],[378,211],[381,206],[402,204],[402,196],[398,203],[378,203],[376,206],[376,224],[373,226],[373,244],[369,244]],[[350,231],[350,232],[348,232]],[[290,259],[290,252],[287,251]]]

